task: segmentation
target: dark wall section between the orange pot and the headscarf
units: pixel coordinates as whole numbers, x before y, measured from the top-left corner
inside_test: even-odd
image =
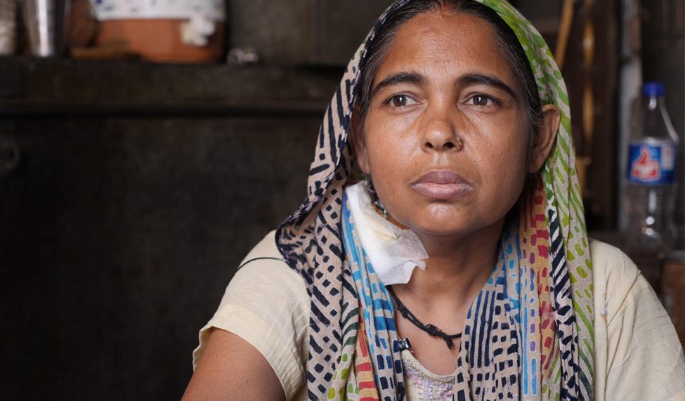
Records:
[[[270,64],[346,65],[393,0],[228,1],[228,46]]]

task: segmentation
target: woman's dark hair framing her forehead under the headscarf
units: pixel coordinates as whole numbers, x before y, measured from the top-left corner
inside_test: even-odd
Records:
[[[521,43],[518,41],[516,34],[504,22],[500,15],[497,14],[488,6],[477,3],[473,0],[416,0],[410,1],[399,8],[393,15],[391,15],[376,37],[372,44],[370,44],[369,52],[366,58],[365,65],[361,70],[361,93],[360,93],[360,122],[364,125],[366,114],[371,103],[371,92],[373,81],[376,79],[376,73],[379,66],[383,62],[386,53],[392,45],[393,39],[397,29],[408,20],[414,18],[416,15],[422,13],[441,11],[447,9],[454,13],[466,13],[482,18],[490,24],[495,33],[495,42],[499,46],[500,51],[504,53],[507,60],[511,60],[511,70],[514,72],[514,77],[518,87],[523,91],[526,97],[526,110],[528,111],[528,120],[530,121],[530,139],[529,143],[533,143],[533,134],[542,127],[544,122],[542,115],[542,105],[540,104],[540,96],[537,94],[537,82],[533,70],[530,69],[526,52],[523,51]],[[529,147],[530,147],[529,145]]]

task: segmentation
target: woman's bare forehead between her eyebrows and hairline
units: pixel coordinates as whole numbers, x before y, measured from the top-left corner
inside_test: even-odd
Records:
[[[484,74],[517,87],[494,29],[467,13],[422,13],[403,23],[379,65],[374,86],[400,71],[418,72],[429,81]]]

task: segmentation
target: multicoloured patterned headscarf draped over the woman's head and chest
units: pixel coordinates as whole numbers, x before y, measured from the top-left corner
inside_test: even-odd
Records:
[[[358,241],[350,237],[354,228],[344,216],[344,188],[355,163],[348,131],[360,93],[360,65],[387,18],[410,1],[398,0],[381,15],[348,64],[319,131],[307,198],[276,235],[278,249],[304,277],[311,296],[306,378],[311,400],[404,397],[392,303],[366,266]],[[496,11],[516,33],[542,105],[554,104],[561,111],[556,144],[521,195],[514,235],[502,237],[520,269],[516,287],[521,290],[512,301],[520,310],[518,334],[512,334],[519,341],[519,394],[513,397],[592,400],[592,266],[566,86],[547,44],[528,20],[506,1],[476,1]],[[374,310],[374,305],[380,306]],[[497,379],[491,380],[495,386]]]

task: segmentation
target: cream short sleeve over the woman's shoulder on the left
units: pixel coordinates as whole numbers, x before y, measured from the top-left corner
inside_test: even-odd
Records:
[[[308,327],[304,279],[283,261],[272,231],[240,263],[214,317],[200,331],[193,364],[212,329],[230,331],[259,350],[292,400],[306,374]]]

